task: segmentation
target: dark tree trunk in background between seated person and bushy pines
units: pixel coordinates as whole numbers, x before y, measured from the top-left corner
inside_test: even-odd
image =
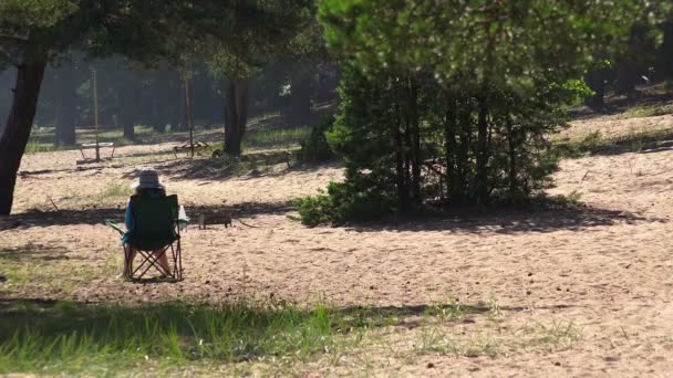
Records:
[[[240,156],[248,122],[248,77],[230,78],[225,96],[225,154]]]

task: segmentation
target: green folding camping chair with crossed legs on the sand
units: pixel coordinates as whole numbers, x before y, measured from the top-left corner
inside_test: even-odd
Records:
[[[124,275],[130,280],[142,279],[153,266],[159,273],[164,273],[159,265],[159,258],[170,251],[168,275],[177,281],[183,280],[183,260],[180,249],[179,207],[177,196],[167,196],[159,199],[132,197],[131,211],[133,212],[134,227],[124,243],[124,265],[127,270]],[[124,234],[120,225],[107,220],[106,223]],[[142,261],[133,269],[133,250],[137,251]],[[153,251],[161,250],[159,255]],[[139,272],[139,273],[138,273]],[[137,274],[137,275],[136,275]]]

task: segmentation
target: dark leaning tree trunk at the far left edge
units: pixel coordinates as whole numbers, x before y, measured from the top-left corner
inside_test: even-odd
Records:
[[[17,172],[33,126],[45,60],[23,62],[17,71],[12,108],[0,138],[0,216],[9,216]]]

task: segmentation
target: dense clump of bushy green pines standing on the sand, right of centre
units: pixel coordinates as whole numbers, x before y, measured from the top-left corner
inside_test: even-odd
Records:
[[[323,1],[325,39],[345,61],[328,140],[345,160],[348,190],[313,209],[360,193],[400,211],[483,204],[548,187],[558,154],[546,137],[591,93],[580,78],[591,53],[623,40],[640,6]]]

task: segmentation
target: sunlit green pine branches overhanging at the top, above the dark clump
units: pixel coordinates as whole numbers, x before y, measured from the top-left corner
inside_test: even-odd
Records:
[[[623,38],[643,3],[327,0],[319,14],[329,45],[367,70],[429,67],[447,84],[460,75],[526,88],[579,77],[594,48]]]

